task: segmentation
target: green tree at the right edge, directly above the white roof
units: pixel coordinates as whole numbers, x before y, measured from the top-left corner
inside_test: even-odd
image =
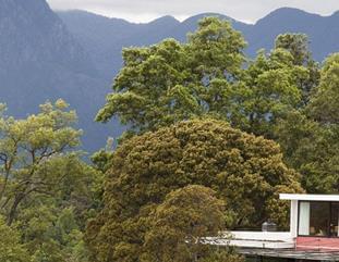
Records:
[[[325,61],[310,103],[290,112],[276,129],[287,163],[302,174],[308,192],[338,194],[338,91],[339,54],[332,54]]]

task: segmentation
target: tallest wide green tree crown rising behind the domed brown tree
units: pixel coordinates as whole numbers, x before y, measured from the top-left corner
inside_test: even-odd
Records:
[[[124,66],[97,121],[119,116],[131,132],[209,115],[274,138],[273,127],[304,107],[317,65],[304,35],[278,36],[275,49],[249,62],[245,41],[227,21],[207,17],[186,43],[167,39],[123,51]]]

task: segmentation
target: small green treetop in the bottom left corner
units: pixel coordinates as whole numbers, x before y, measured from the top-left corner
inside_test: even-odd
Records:
[[[20,233],[8,226],[0,217],[0,261],[3,262],[29,262],[31,257],[20,242]]]

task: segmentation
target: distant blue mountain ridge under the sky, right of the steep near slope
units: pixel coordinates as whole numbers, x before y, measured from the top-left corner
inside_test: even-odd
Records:
[[[254,25],[216,13],[195,15],[182,23],[171,16],[164,16],[148,24],[129,23],[84,11],[58,14],[80,42],[90,50],[95,64],[106,77],[112,77],[120,70],[123,47],[147,46],[168,37],[185,41],[186,34],[196,29],[197,22],[209,15],[230,20],[233,27],[243,33],[249,42],[246,53],[251,57],[254,57],[258,49],[270,50],[275,38],[282,33],[307,34],[311,50],[318,61],[339,51],[339,12],[331,16],[320,16],[298,9],[282,8]]]

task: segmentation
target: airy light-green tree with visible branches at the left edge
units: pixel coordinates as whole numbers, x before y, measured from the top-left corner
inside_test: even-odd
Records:
[[[26,118],[1,109],[0,214],[34,262],[86,261],[82,230],[100,173],[82,160],[75,112],[63,100]]]

